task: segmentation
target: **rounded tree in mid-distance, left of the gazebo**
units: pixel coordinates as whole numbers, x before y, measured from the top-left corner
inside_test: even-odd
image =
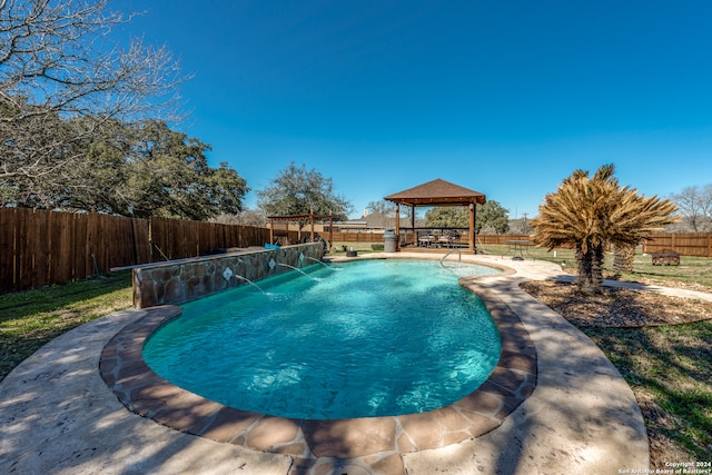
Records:
[[[294,161],[265,189],[257,191],[257,206],[267,216],[329,215],[346,219],[353,206],[338,196],[330,178]]]

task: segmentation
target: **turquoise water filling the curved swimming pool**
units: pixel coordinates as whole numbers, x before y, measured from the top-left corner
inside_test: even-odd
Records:
[[[150,337],[146,363],[227,406],[310,419],[432,410],[497,364],[496,326],[457,285],[495,269],[388,259],[301,270],[260,280],[264,294],[246,285],[186,304]]]

